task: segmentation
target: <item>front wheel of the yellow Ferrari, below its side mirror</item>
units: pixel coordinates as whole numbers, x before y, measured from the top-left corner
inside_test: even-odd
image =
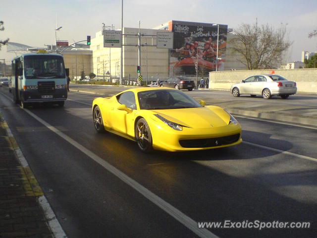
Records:
[[[135,124],[135,140],[142,152],[149,153],[153,150],[153,141],[148,122],[141,118]]]

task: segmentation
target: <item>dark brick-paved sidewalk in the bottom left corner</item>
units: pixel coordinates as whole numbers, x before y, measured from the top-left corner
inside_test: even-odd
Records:
[[[38,199],[43,192],[22,167],[17,144],[0,115],[0,238],[53,238]]]

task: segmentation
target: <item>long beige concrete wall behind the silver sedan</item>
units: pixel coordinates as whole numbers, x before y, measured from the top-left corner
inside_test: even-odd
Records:
[[[234,83],[241,82],[243,79],[257,74],[268,74],[274,70],[288,80],[297,83],[298,92],[317,93],[317,68],[299,69],[264,69],[264,70],[233,70],[218,71],[209,73],[209,88],[219,90],[229,90]]]

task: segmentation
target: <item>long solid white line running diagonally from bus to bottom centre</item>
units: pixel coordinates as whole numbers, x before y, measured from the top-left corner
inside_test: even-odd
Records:
[[[190,217],[186,216],[184,213],[182,213],[181,211],[179,211],[177,208],[173,207],[169,203],[165,202],[158,195],[154,194],[153,192],[151,192],[149,189],[142,186],[140,183],[138,183],[134,179],[131,179],[130,177],[128,177],[127,175],[122,173],[120,170],[116,169],[115,167],[113,167],[112,165],[107,163],[105,160],[100,158],[98,155],[96,155],[92,151],[88,150],[87,148],[85,148],[84,146],[82,146],[81,144],[79,144],[78,142],[76,142],[75,140],[70,138],[69,136],[65,135],[64,133],[62,133],[60,130],[58,130],[54,126],[47,123],[45,120],[39,118],[38,116],[36,116],[35,114],[33,114],[32,112],[30,112],[27,109],[24,109],[24,111],[27,112],[31,117],[33,117],[34,119],[38,120],[40,123],[45,125],[47,128],[49,128],[50,130],[55,132],[61,138],[63,138],[64,140],[66,140],[67,142],[72,144],[74,147],[79,149],[81,152],[86,154],[88,157],[90,157],[91,159],[96,161],[98,164],[103,166],[111,174],[113,174],[117,178],[121,179],[122,181],[127,183],[129,186],[134,188],[136,191],[141,193],[143,196],[148,198],[150,201],[152,201],[154,204],[156,204],[163,211],[165,211],[166,213],[171,215],[173,218],[175,218],[181,224],[183,224],[188,229],[190,229],[192,232],[194,232],[197,236],[199,236],[201,238],[217,238],[216,235],[214,235],[213,233],[211,233],[207,229],[199,229],[198,223],[196,221],[194,221]]]

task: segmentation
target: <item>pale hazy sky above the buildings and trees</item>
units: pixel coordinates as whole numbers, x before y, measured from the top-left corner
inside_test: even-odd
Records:
[[[226,24],[241,23],[279,27],[287,24],[293,42],[287,61],[301,60],[302,51],[317,51],[317,0],[124,0],[124,27],[153,28],[169,20]],[[121,26],[121,0],[0,0],[0,20],[4,31],[0,39],[10,38],[35,47],[54,44],[56,16],[60,40],[69,42],[95,37],[102,23]],[[0,59],[11,60],[12,53],[2,47]]]

